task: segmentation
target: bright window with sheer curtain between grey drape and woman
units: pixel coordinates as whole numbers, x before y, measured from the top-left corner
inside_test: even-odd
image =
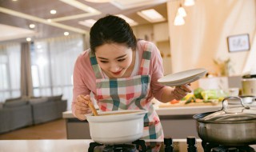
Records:
[[[63,94],[71,102],[74,62],[82,51],[82,36],[34,42],[31,50],[34,96]]]

